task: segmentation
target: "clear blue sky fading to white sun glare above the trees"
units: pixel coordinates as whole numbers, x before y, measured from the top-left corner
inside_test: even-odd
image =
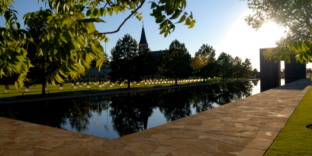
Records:
[[[175,31],[164,37],[163,34],[159,34],[159,26],[154,17],[150,16],[152,9],[151,3],[148,2],[146,1],[139,9],[143,16],[141,21],[135,17],[130,18],[119,32],[107,34],[110,41],[106,44],[106,51],[109,55],[118,39],[127,33],[139,43],[144,21],[146,39],[152,51],[168,49],[170,43],[177,39],[185,43],[189,53],[194,56],[202,44],[208,44],[216,50],[216,57],[225,52],[233,58],[239,56],[243,61],[248,58],[252,67],[260,71],[259,49],[275,47],[275,41],[285,35],[286,29],[273,22],[266,23],[258,31],[248,26],[244,19],[253,12],[248,9],[246,1],[187,0],[185,11],[188,13],[192,11],[193,19],[196,20],[195,26],[188,29],[183,23],[176,24]],[[21,27],[24,27],[22,19],[24,14],[38,11],[40,7],[46,8],[43,2],[38,4],[37,0],[15,0],[13,7],[19,13],[17,17]],[[111,17],[109,15],[104,19],[100,17],[105,23],[96,23],[95,27],[99,32],[115,31],[129,14],[130,12],[125,12],[116,16],[114,13]],[[4,26],[4,18],[0,19],[0,25]],[[179,18],[173,22],[178,20]],[[105,49],[105,42],[101,45]],[[312,65],[307,65],[307,68],[311,67]],[[281,69],[283,68],[282,63]]]

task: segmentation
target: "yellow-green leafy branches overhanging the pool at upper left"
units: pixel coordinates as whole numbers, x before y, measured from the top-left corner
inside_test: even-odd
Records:
[[[27,42],[33,42],[32,35],[20,28],[16,13],[13,9],[13,0],[0,2],[0,16],[6,20],[5,27],[0,27],[0,76],[18,74],[15,82],[19,90],[23,81],[27,81],[28,68],[32,67],[27,58]],[[61,75],[77,80],[79,75],[85,74],[85,68],[90,68],[92,60],[97,59],[99,70],[105,57],[100,41],[108,42],[106,34],[118,32],[130,18],[142,19],[137,12],[145,0],[38,0],[45,2],[49,8],[37,12],[29,12],[23,16],[26,27],[43,27],[44,33],[39,37],[37,56],[44,57],[50,62],[56,62],[59,68],[48,77],[53,85],[55,80],[64,83]],[[186,0],[159,0],[151,2],[156,23],[159,23],[160,34],[166,37],[174,31],[176,23],[185,22],[189,28],[195,24],[193,14],[185,12]],[[114,13],[131,13],[124,19],[116,31],[98,32],[94,22],[105,22],[106,15]],[[83,12],[86,11],[86,12]],[[178,17],[180,19],[178,20]],[[20,47],[22,46],[22,48]]]

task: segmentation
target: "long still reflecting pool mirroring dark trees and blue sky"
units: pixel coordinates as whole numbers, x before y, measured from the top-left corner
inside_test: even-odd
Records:
[[[260,93],[260,80],[0,104],[0,116],[115,139]]]

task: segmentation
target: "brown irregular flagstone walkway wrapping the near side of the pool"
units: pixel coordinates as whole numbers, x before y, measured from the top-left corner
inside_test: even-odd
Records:
[[[298,80],[117,139],[0,117],[0,155],[262,156],[310,87]]]

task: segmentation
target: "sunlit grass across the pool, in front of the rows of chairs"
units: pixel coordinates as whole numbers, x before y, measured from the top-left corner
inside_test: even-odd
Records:
[[[233,79],[236,80],[236,79]],[[225,81],[233,81],[232,79]],[[242,80],[242,79],[239,79]],[[213,83],[213,82],[222,82],[222,80],[209,80],[205,83]],[[202,81],[193,82],[193,84],[203,83]],[[82,85],[82,87],[78,86],[78,89],[74,89],[71,86],[71,82],[67,82],[64,86],[64,90],[59,90],[60,88],[53,86],[51,83],[49,85],[48,91],[46,91],[45,96],[61,96],[61,95],[76,95],[76,94],[88,94],[88,93],[99,93],[99,92],[112,92],[112,91],[120,91],[120,90],[129,90],[128,84],[124,84],[121,88],[119,84],[115,84],[114,87],[110,87],[110,85],[105,85],[103,88],[100,88],[99,85],[94,85],[94,81],[91,81],[91,89],[87,89],[87,86]],[[192,82],[181,82],[178,85],[190,85]],[[172,86],[174,84],[157,84],[157,85],[145,85],[144,83],[140,83],[140,85],[132,83],[130,90],[144,89],[144,88],[158,88],[164,86]],[[37,84],[34,88],[30,89],[31,92],[26,92],[25,88],[21,88],[21,93],[15,89],[15,86],[9,85],[11,89],[11,93],[5,93],[5,85],[0,85],[0,100],[12,100],[12,99],[21,99],[21,98],[35,98],[42,97],[41,95],[41,84]],[[39,95],[39,96],[38,96]]]

